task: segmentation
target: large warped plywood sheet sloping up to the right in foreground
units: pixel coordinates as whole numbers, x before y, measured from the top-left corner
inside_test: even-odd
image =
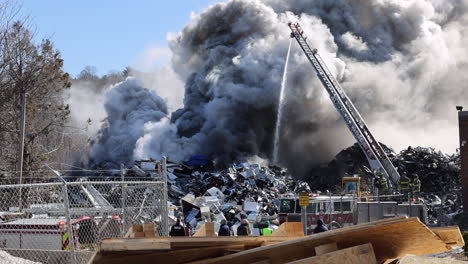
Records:
[[[250,263],[270,260],[285,263],[315,255],[314,247],[336,242],[339,249],[372,243],[377,260],[406,254],[431,254],[448,251],[446,244],[417,217],[379,220],[314,234],[275,245],[254,248],[203,263]]]

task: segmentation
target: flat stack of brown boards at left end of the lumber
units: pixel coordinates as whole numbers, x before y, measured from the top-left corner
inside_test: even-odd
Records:
[[[108,239],[92,263],[187,263],[298,237],[155,237]]]

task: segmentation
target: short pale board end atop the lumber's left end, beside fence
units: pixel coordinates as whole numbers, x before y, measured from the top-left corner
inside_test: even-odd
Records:
[[[171,243],[160,238],[130,238],[116,239],[112,243],[103,241],[100,248],[101,251],[167,250],[171,249]]]

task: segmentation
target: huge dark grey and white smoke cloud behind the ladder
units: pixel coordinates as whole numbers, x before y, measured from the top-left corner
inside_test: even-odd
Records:
[[[171,39],[173,69],[185,80],[183,108],[171,119],[161,119],[162,111],[135,122],[120,120],[116,127],[126,129],[117,129],[117,135],[138,130],[120,157],[182,160],[206,154],[224,163],[270,158],[287,23],[296,20],[381,142],[396,149],[429,145],[453,152],[454,106],[468,105],[467,10],[463,0],[213,5]],[[298,176],[354,141],[297,45],[283,120],[280,161]],[[105,146],[95,154],[106,157]]]

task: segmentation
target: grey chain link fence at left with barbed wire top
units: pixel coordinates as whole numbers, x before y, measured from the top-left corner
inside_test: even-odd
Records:
[[[155,236],[168,236],[159,165],[145,178],[0,179],[0,263],[88,263],[101,240],[126,237],[133,224],[154,223]]]

